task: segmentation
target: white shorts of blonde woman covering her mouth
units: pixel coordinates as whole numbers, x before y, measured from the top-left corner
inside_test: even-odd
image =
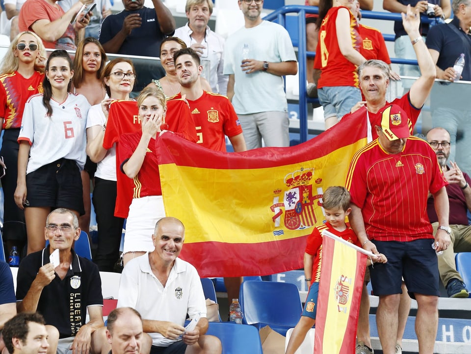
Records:
[[[123,254],[127,252],[152,252],[152,235],[156,222],[165,217],[161,195],[132,199],[129,207],[126,233],[124,234]]]

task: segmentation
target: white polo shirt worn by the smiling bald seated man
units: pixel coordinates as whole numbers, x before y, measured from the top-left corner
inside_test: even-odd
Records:
[[[125,306],[136,309],[143,320],[170,321],[181,326],[187,313],[190,319],[198,313],[206,317],[205,295],[195,267],[177,258],[164,287],[151,270],[149,252],[132,259],[121,273],[117,307]],[[178,341],[160,333],[149,335],[152,344],[159,347]]]

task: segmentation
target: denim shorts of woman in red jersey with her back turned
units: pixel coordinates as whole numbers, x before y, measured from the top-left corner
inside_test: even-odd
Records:
[[[340,120],[362,100],[360,89],[353,86],[322,87],[317,90],[317,94],[324,108],[324,119],[337,117]]]

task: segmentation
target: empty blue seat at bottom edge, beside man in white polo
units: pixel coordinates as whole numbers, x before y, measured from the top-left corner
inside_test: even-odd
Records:
[[[259,331],[253,326],[211,322],[206,334],[220,339],[222,354],[263,354]]]

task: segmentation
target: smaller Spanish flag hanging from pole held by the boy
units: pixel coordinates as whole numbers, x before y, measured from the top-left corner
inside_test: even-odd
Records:
[[[314,354],[352,354],[355,353],[366,254],[328,231],[322,234]]]

